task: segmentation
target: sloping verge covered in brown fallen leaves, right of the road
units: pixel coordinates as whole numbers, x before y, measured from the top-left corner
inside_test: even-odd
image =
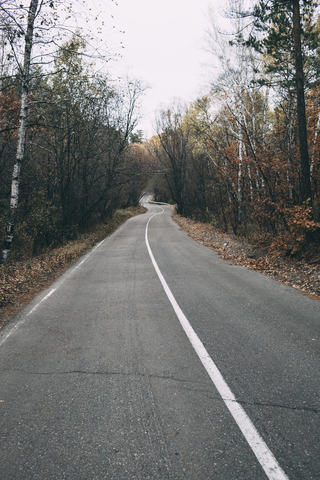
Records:
[[[174,215],[173,219],[181,230],[198,243],[218,252],[223,259],[264,273],[284,285],[294,287],[303,295],[320,300],[318,262],[271,257],[264,249],[254,247],[235,235],[219,232],[212,225],[195,222],[179,215]]]

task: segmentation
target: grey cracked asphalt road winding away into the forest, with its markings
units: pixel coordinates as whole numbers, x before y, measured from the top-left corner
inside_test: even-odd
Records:
[[[319,479],[320,302],[150,205],[0,333],[0,478]]]

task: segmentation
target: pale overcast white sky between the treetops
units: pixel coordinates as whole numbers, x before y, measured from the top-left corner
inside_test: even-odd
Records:
[[[173,99],[189,103],[203,88],[204,36],[209,6],[218,14],[223,0],[92,0],[104,22],[106,42],[122,58],[113,63],[116,75],[141,79],[150,86],[143,99],[139,123],[146,138],[155,111]],[[120,43],[122,42],[122,43]],[[124,48],[122,48],[124,47]]]

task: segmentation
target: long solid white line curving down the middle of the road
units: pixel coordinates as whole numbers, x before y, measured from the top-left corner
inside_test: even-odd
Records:
[[[161,207],[160,207],[161,208]],[[231,415],[233,416],[234,420],[238,424],[240,430],[242,431],[244,437],[246,438],[247,442],[249,443],[253,453],[257,457],[260,465],[264,469],[267,477],[270,480],[288,480],[287,475],[284,473],[280,465],[278,464],[276,458],[274,457],[273,453],[267,446],[267,444],[264,442],[262,437],[260,436],[259,432],[251,422],[250,418],[242,408],[242,406],[237,402],[236,397],[230,390],[229,386],[227,385],[226,381],[224,380],[223,376],[221,375],[219,369],[217,368],[216,364],[213,362],[211,357],[209,356],[207,350],[203,346],[200,338],[196,334],[196,332],[193,330],[192,326],[190,325],[188,319],[182,312],[181,308],[179,307],[176,299],[174,298],[170,288],[168,287],[167,282],[165,281],[158,264],[153,256],[152,250],[149,245],[148,241],[148,228],[149,228],[149,223],[150,220],[157,216],[161,215],[164,210],[161,208],[161,212],[156,213],[155,215],[152,215],[152,217],[149,218],[147,226],[146,226],[146,232],[145,232],[145,241],[147,245],[147,249],[151,258],[151,261],[153,263],[153,266],[155,268],[155,271],[157,272],[157,275],[159,277],[159,280],[164,288],[164,291],[167,294],[167,297],[185,331],[187,334],[193,348],[198,354],[198,357],[200,358],[203,366],[207,370],[211,380],[213,381],[216,389],[220,393],[224,403],[226,404],[228,410],[230,411]]]

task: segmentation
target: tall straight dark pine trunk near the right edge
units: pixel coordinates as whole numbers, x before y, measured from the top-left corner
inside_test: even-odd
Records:
[[[304,100],[304,81],[301,53],[301,27],[299,0],[293,0],[293,34],[296,63],[297,113],[299,126],[299,144],[301,157],[301,198],[305,202],[311,199],[310,165],[308,152],[306,107]]]

